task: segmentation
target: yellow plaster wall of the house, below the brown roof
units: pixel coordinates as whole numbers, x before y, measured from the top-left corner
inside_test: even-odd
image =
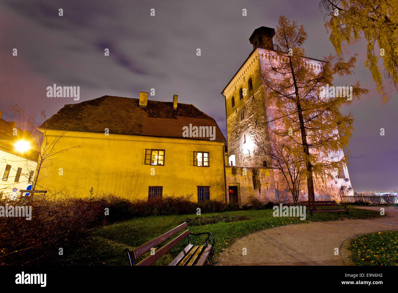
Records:
[[[60,134],[47,130],[50,140]],[[197,201],[199,185],[210,186],[211,199],[224,201],[223,145],[210,140],[67,132],[54,152],[80,147],[45,162],[38,185],[78,197],[89,196],[93,187],[94,193],[114,193],[131,200],[147,199],[149,186],[163,186],[163,194],[192,194],[193,201]],[[146,148],[165,149],[164,166],[145,165]],[[210,167],[193,166],[193,151],[208,151]],[[59,168],[63,175],[59,175]]]

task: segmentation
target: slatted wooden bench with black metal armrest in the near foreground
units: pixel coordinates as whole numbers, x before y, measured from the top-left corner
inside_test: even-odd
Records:
[[[179,234],[176,238],[171,240],[170,242],[164,244],[161,248],[156,248],[159,244],[164,242],[170,237],[177,235],[181,230],[185,229],[181,234]],[[190,235],[199,236],[199,235],[207,235],[204,244],[202,245],[193,245],[191,244],[191,240],[189,239]],[[179,244],[183,239],[187,238],[188,245],[172,260],[169,265],[204,265],[206,260],[209,261],[211,265],[213,265],[213,255],[214,255],[214,244],[215,239],[213,234],[209,232],[204,233],[191,233],[187,229],[187,222],[183,222],[181,225],[176,228],[156,237],[145,244],[142,244],[140,247],[135,248],[132,252],[128,248],[125,248],[124,251],[127,252],[129,261],[131,265],[134,265],[134,261],[137,260],[140,256],[145,254],[148,251],[151,251],[150,255],[144,258],[142,261],[135,265],[151,265],[156,262],[160,257],[164,256],[166,252],[170,251],[174,246]],[[211,239],[212,238],[212,239]],[[210,241],[213,240],[211,244]]]

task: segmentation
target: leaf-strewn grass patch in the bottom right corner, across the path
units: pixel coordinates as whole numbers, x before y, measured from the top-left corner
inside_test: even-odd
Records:
[[[358,236],[351,240],[348,250],[355,265],[398,265],[398,231]]]

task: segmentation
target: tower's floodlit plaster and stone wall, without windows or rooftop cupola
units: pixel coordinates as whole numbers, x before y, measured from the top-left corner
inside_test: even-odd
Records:
[[[264,145],[264,138],[273,128],[285,127],[278,122],[266,123],[267,120],[279,116],[278,109],[272,104],[266,103],[266,93],[263,80],[260,73],[269,66],[269,57],[271,51],[256,49],[248,58],[242,68],[236,73],[236,76],[228,83],[223,91],[226,98],[226,121],[228,130],[228,156],[235,155],[236,165],[242,167],[259,167],[263,161],[268,158],[261,153],[261,147]],[[319,65],[319,61],[310,61],[314,65]],[[252,78],[253,90],[248,90],[248,79]],[[247,89],[247,95],[242,100],[239,99],[239,89]],[[232,107],[231,100],[234,96],[235,106]],[[253,98],[254,96],[254,98]],[[267,106],[265,106],[267,105]],[[242,108],[246,108],[245,119],[240,121],[239,114]],[[269,129],[268,129],[269,128]],[[246,144],[242,144],[242,134],[246,134]],[[330,160],[339,160],[343,157],[343,151],[329,154]],[[227,169],[228,170],[228,169]],[[226,172],[230,173],[229,171]],[[286,181],[275,172],[275,201],[292,201]],[[345,178],[338,178],[337,173],[333,173],[334,179],[314,179],[314,191],[316,200],[339,200],[340,194],[353,195],[351,181],[349,180],[348,169],[344,166]],[[244,179],[242,178],[242,184]],[[243,185],[241,185],[243,186]],[[247,187],[250,189],[250,184]],[[300,197],[307,199],[306,185],[303,186]],[[262,195],[259,195],[260,197]],[[268,196],[268,195],[267,195]],[[272,197],[271,197],[272,198]],[[266,199],[261,199],[266,201]]]

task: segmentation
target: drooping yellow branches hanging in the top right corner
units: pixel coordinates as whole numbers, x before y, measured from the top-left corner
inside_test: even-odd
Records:
[[[320,8],[325,12],[325,26],[338,56],[343,41],[350,45],[363,33],[367,40],[365,65],[385,102],[388,95],[377,62],[383,59],[384,76],[398,90],[398,0],[321,0]],[[375,52],[376,43],[379,51]]]

